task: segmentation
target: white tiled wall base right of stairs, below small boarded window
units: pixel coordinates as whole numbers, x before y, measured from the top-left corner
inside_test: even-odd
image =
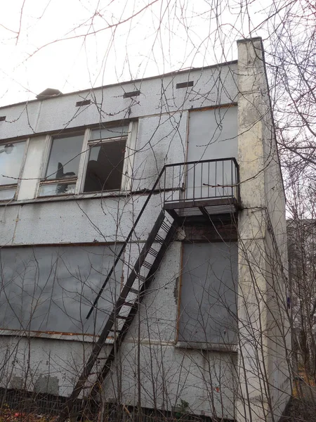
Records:
[[[121,391],[122,401],[136,406],[140,388],[141,404],[149,409],[173,411],[187,402],[192,414],[235,419],[234,355],[135,341],[124,342],[118,360],[103,384],[107,400],[114,401]],[[124,375],[118,377],[120,373]]]

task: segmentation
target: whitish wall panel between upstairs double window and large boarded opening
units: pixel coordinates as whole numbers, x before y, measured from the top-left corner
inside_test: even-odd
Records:
[[[15,244],[114,241],[117,200],[100,198],[31,203],[20,209]]]

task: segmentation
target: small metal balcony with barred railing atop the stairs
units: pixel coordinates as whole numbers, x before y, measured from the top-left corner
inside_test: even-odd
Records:
[[[164,169],[164,210],[179,224],[236,219],[240,207],[236,158],[180,162]]]

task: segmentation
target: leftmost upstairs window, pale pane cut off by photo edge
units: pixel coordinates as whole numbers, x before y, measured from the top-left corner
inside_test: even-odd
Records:
[[[0,145],[0,200],[15,198],[26,141]]]

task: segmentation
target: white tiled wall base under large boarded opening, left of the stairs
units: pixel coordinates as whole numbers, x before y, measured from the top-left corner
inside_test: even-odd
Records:
[[[40,381],[46,378],[47,390],[41,392],[61,396],[69,396],[72,392],[74,381],[77,381],[92,347],[91,343],[49,338],[32,338],[30,341],[17,335],[1,336],[0,340],[1,387],[38,391]],[[103,355],[107,347],[104,349]],[[29,359],[27,368],[25,357]]]

